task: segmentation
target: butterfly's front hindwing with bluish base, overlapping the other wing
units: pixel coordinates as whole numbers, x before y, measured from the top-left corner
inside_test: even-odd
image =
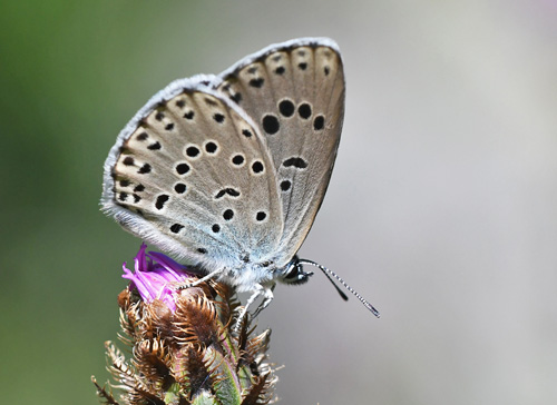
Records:
[[[218,269],[273,250],[283,220],[264,137],[211,80],[177,80],[131,119],[105,164],[102,205],[131,234]]]

